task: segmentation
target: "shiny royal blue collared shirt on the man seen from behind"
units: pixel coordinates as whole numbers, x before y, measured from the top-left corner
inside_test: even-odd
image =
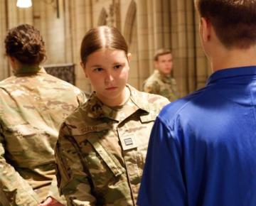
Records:
[[[162,109],[139,206],[256,205],[256,67],[220,70]]]

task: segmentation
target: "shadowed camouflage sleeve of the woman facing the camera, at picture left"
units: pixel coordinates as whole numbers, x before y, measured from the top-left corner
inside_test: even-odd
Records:
[[[91,194],[88,175],[82,166],[78,147],[65,124],[60,129],[55,146],[55,161],[59,192],[65,196],[68,205],[95,205],[95,197]]]

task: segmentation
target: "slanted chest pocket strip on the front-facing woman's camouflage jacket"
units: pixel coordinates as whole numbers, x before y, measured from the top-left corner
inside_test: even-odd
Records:
[[[117,159],[114,158],[114,156],[111,156],[95,137],[89,137],[87,141],[90,142],[92,147],[95,149],[95,151],[97,151],[98,155],[106,163],[107,167],[112,171],[115,177],[119,177],[122,175],[122,173],[124,173],[125,170],[122,168]]]

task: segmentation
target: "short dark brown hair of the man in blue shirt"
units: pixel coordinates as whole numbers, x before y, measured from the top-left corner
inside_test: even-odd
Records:
[[[256,44],[255,0],[196,0],[201,17],[213,24],[226,48],[250,48]]]

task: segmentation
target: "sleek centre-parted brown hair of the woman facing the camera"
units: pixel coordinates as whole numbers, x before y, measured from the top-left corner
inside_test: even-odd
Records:
[[[82,63],[86,63],[87,57],[103,48],[124,50],[128,54],[128,45],[117,28],[110,26],[98,26],[85,33],[80,48]]]

